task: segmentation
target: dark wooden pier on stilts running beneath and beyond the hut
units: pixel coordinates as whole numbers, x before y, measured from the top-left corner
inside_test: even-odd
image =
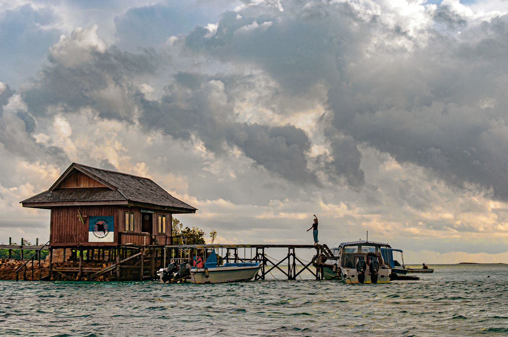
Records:
[[[7,246],[7,245],[6,245]],[[35,246],[27,246],[34,250]],[[4,248],[4,247],[0,247]],[[11,246],[9,248],[18,248]],[[23,247],[24,248],[24,247]],[[35,253],[16,270],[16,281],[22,280],[66,280],[66,281],[147,281],[158,280],[157,272],[171,262],[189,262],[203,249],[215,249],[221,262],[258,262],[262,265],[254,280],[265,280],[277,269],[288,280],[308,271],[316,280],[323,279],[320,267],[298,256],[301,250],[313,250],[314,256],[329,251],[326,245],[120,245],[117,247],[58,248],[38,246]],[[40,251],[49,250],[49,261],[41,264]],[[62,250],[60,261],[54,260],[54,251]],[[276,260],[269,252],[287,249],[282,259]],[[297,266],[300,266],[297,268]],[[21,277],[20,275],[21,274]],[[29,277],[31,275],[31,277]]]

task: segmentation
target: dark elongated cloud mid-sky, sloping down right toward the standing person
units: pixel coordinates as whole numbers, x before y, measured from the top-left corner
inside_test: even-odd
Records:
[[[224,82],[208,81],[196,74],[179,73],[175,78],[177,83],[168,88],[160,101],[138,95],[143,111],[139,121],[145,127],[183,140],[197,133],[206,148],[219,155],[226,153],[225,143],[237,146],[268,171],[293,182],[317,183],[307,169],[305,152],[310,149],[310,141],[302,129],[235,122]]]

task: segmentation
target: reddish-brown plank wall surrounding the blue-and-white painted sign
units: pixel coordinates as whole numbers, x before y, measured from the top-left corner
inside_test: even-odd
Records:
[[[81,206],[81,215],[85,216],[85,224],[79,220],[77,206],[58,206],[51,208],[50,245],[51,246],[115,246],[118,242],[118,206]],[[114,242],[88,243],[88,217],[114,216]]]

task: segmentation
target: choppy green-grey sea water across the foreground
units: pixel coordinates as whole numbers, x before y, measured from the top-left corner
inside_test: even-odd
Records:
[[[433,267],[420,281],[363,285],[307,272],[200,285],[0,281],[0,335],[508,335],[508,265]]]

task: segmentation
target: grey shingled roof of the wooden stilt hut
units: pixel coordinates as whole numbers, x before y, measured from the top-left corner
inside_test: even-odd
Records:
[[[59,188],[76,171],[98,181],[105,187]],[[72,163],[47,191],[21,201],[23,207],[48,208],[53,204],[69,205],[107,203],[169,209],[181,213],[195,213],[196,208],[178,200],[151,179],[126,173]]]

